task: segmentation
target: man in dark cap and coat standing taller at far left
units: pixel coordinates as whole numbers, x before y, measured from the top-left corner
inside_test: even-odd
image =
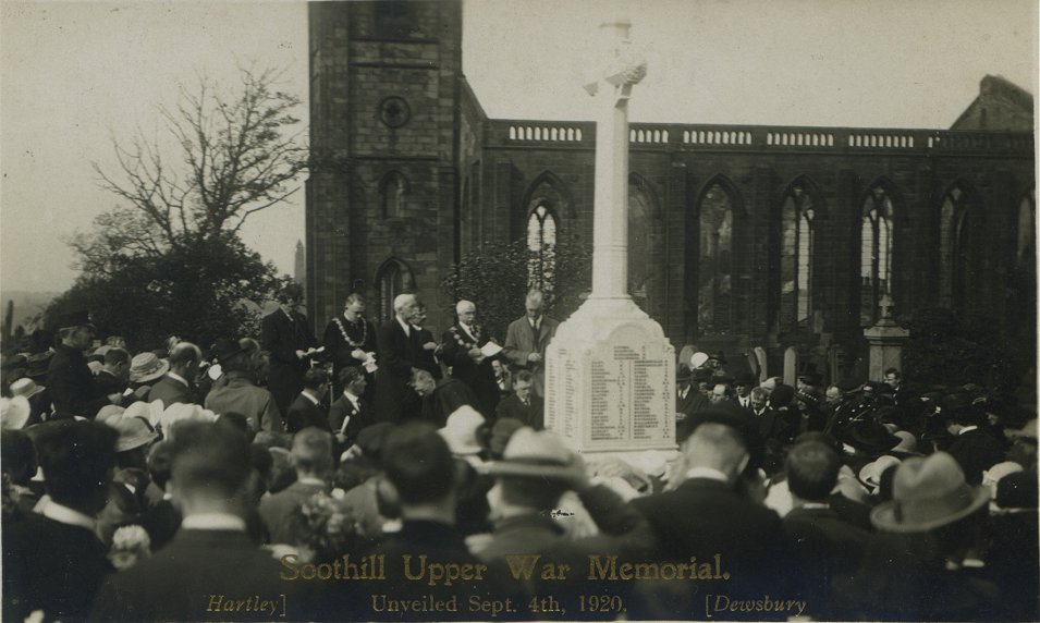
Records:
[[[119,404],[121,395],[106,394],[83,356],[94,342],[95,329],[86,312],[62,315],[58,337],[61,343],[47,368],[47,387],[54,400],[54,417],[78,415],[93,418],[102,406]]]

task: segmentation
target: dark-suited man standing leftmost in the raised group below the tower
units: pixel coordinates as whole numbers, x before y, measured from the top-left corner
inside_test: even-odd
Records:
[[[302,300],[299,285],[286,285],[278,294],[279,309],[260,321],[260,344],[271,354],[267,388],[281,413],[289,411],[293,399],[303,390],[309,353],[318,344],[307,317],[297,310]]]

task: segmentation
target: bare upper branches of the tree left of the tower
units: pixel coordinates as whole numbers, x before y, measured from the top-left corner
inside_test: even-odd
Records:
[[[118,169],[94,169],[101,187],[123,199],[71,244],[87,273],[110,274],[117,256],[158,257],[197,242],[234,237],[249,216],[298,190],[306,167],[298,97],[276,88],[281,71],[240,69],[232,91],[199,77],[159,107],[166,142],[140,131],[113,139]]]

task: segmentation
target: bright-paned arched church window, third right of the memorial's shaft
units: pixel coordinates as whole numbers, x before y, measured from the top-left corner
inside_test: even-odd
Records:
[[[781,213],[780,319],[791,330],[808,327],[812,315],[812,197],[804,186],[792,186]]]

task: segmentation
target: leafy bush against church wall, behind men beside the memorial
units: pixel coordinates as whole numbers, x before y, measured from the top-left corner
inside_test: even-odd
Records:
[[[560,320],[573,314],[591,284],[591,251],[575,240],[562,240],[546,251],[542,266],[547,313]],[[441,286],[452,302],[473,301],[478,321],[489,335],[505,340],[510,322],[524,313],[524,296],[529,289],[528,267],[535,261],[526,241],[486,242],[453,265]],[[453,303],[454,304],[454,303]],[[454,313],[454,307],[450,310]]]

